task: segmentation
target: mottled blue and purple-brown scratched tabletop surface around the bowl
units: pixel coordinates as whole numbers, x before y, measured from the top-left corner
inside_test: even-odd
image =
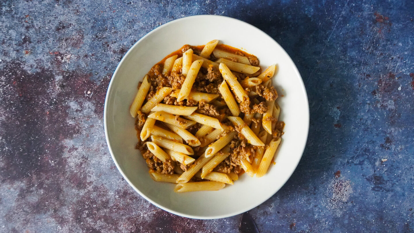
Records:
[[[412,1],[1,1],[0,232],[239,231],[241,215],[193,220],[149,204],[104,137],[125,52],[197,14],[265,31],[308,91],[303,158],[249,211],[260,232],[413,232],[413,12]]]

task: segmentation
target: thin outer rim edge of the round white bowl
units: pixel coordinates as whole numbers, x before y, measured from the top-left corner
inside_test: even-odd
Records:
[[[121,168],[120,168],[120,165],[118,164],[118,162],[117,162],[117,160],[116,160],[116,158],[115,158],[115,156],[114,156],[114,153],[113,153],[113,151],[112,151],[112,148],[111,148],[111,143],[110,143],[110,141],[109,141],[109,136],[108,136],[108,125],[107,125],[107,123],[108,123],[108,121],[107,121],[107,114],[108,114],[108,97],[109,97],[109,93],[111,92],[111,87],[112,87],[112,85],[113,85],[113,79],[114,79],[114,77],[116,76],[116,74],[118,73],[118,70],[119,70],[119,68],[120,68],[120,65],[123,63],[123,61],[125,60],[125,58],[128,56],[128,54],[135,48],[135,46],[138,46],[138,44],[140,44],[140,42],[142,41],[142,40],[144,40],[147,36],[149,36],[150,34],[152,34],[152,33],[154,33],[154,32],[156,32],[156,31],[159,31],[159,30],[161,30],[161,29],[163,29],[164,27],[168,27],[170,24],[175,24],[175,23],[178,23],[178,22],[180,22],[180,21],[183,21],[183,20],[188,20],[188,19],[192,19],[192,18],[208,18],[208,17],[215,17],[215,18],[222,18],[222,19],[226,19],[226,20],[233,20],[233,21],[236,21],[236,22],[238,22],[238,23],[241,23],[241,24],[245,24],[246,26],[249,26],[249,27],[254,27],[255,29],[257,29],[259,32],[261,32],[262,33],[262,36],[267,36],[268,38],[270,38],[272,41],[274,41],[274,43],[276,43],[278,46],[280,46],[280,44],[279,43],[277,43],[277,41],[275,41],[271,36],[269,36],[268,34],[266,34],[265,32],[263,32],[261,29],[259,29],[259,28],[257,28],[257,27],[255,27],[255,26],[253,26],[253,25],[251,25],[251,24],[249,24],[249,23],[247,23],[247,22],[244,22],[244,21],[242,21],[242,20],[240,20],[240,19],[235,19],[235,18],[232,18],[232,17],[227,17],[227,16],[222,16],[222,15],[192,15],[192,16],[187,16],[187,17],[182,17],[182,18],[179,18],[179,19],[174,19],[174,20],[172,20],[172,21],[170,21],[170,22],[167,22],[167,23],[165,23],[165,24],[163,24],[163,25],[161,25],[161,26],[159,26],[159,27],[156,27],[155,29],[152,29],[150,32],[148,32],[147,34],[145,34],[144,36],[142,36],[142,38],[140,38],[137,42],[135,42],[135,44],[130,48],[130,49],[128,49],[128,51],[125,53],[125,55],[123,56],[123,58],[121,59],[121,61],[118,63],[118,66],[116,67],[116,69],[115,69],[115,71],[113,72],[113,75],[112,75],[112,77],[111,77],[111,80],[110,80],[110,82],[109,82],[109,85],[108,85],[108,89],[107,89],[107,91],[106,91],[106,96],[105,96],[105,104],[104,104],[104,108],[103,108],[103,125],[104,125],[104,130],[105,130],[105,139],[106,139],[106,144],[108,145],[108,149],[109,149],[109,152],[111,153],[111,157],[112,157],[112,160],[113,160],[113,162],[115,163],[115,165],[116,165],[116,167],[118,168],[118,171],[121,173],[121,175],[123,176],[123,178],[128,182],[128,184],[136,191],[136,192],[138,192],[142,197],[144,197],[144,199],[146,199],[147,201],[149,201],[150,203],[152,203],[153,205],[155,205],[155,206],[157,206],[158,208],[160,208],[160,209],[163,209],[163,210],[165,210],[165,211],[168,211],[169,213],[172,213],[172,214],[176,214],[176,215],[178,215],[178,216],[183,216],[183,217],[186,217],[186,218],[195,218],[195,219],[218,219],[218,218],[227,218],[227,217],[231,217],[231,216],[235,216],[235,215],[238,215],[238,214],[242,214],[242,213],[244,213],[244,212],[246,212],[246,211],[249,211],[250,209],[253,209],[253,208],[255,208],[255,207],[257,207],[257,206],[259,206],[260,204],[263,204],[265,201],[267,201],[268,199],[270,199],[270,197],[272,197],[274,194],[276,194],[283,186],[284,186],[284,184],[286,184],[286,182],[289,180],[289,178],[292,176],[292,174],[293,174],[293,172],[296,170],[296,167],[298,166],[298,164],[299,164],[299,162],[300,162],[300,160],[301,160],[301,158],[302,158],[302,156],[303,156],[303,151],[305,150],[305,147],[306,147],[306,142],[307,142],[307,139],[308,139],[308,134],[309,134],[309,118],[310,118],[310,114],[309,114],[309,101],[308,101],[308,95],[307,95],[307,93],[306,93],[306,88],[305,88],[305,85],[304,85],[304,83],[303,83],[303,79],[302,79],[302,76],[301,76],[301,74],[299,73],[299,71],[298,71],[298,68],[296,67],[296,64],[293,62],[293,60],[292,60],[292,58],[289,56],[289,54],[283,49],[283,47],[282,46],[280,46],[280,48],[286,53],[286,55],[288,56],[288,58],[289,58],[289,60],[294,64],[294,72],[296,73],[296,75],[298,75],[298,77],[300,78],[300,84],[301,84],[301,91],[303,92],[303,94],[304,94],[304,96],[305,96],[305,100],[306,100],[306,107],[307,107],[307,111],[306,111],[306,116],[304,116],[304,117],[306,117],[306,119],[307,119],[307,122],[308,122],[308,124],[306,124],[306,132],[304,132],[304,133],[306,133],[306,137],[305,137],[305,141],[304,142],[302,142],[301,143],[301,156],[298,158],[298,160],[295,162],[295,161],[292,161],[292,162],[295,162],[296,164],[294,165],[294,169],[292,169],[291,170],[291,172],[290,172],[290,174],[289,174],[289,176],[286,176],[286,179],[282,182],[283,184],[282,184],[282,186],[279,188],[279,189],[277,189],[277,190],[275,190],[274,192],[272,192],[270,195],[267,195],[266,197],[263,197],[262,198],[262,200],[263,201],[260,201],[260,203],[258,203],[258,204],[253,204],[253,205],[250,205],[250,206],[247,206],[247,207],[245,207],[245,208],[242,208],[241,210],[239,210],[239,211],[234,211],[234,212],[232,212],[232,213],[229,213],[229,214],[222,214],[222,215],[217,215],[217,216],[197,216],[197,215],[191,215],[191,214],[184,214],[184,213],[181,213],[181,212],[179,212],[179,211],[175,211],[175,210],[172,210],[172,209],[169,209],[168,207],[166,207],[166,206],[162,206],[162,205],[160,205],[160,204],[158,204],[158,203],[156,203],[155,201],[153,201],[151,198],[149,198],[149,197],[147,197],[146,195],[144,195],[137,187],[135,187],[135,185],[133,185],[132,184],[132,182],[128,179],[128,177],[126,177],[125,176],[125,174],[124,174],[124,172],[121,170]]]

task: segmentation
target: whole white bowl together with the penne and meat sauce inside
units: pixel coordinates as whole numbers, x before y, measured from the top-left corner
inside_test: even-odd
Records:
[[[233,36],[240,30],[246,36]],[[166,39],[167,35],[180,36]],[[207,44],[214,44],[214,39],[219,41],[209,56],[205,56],[202,53],[205,46],[200,45],[208,41],[213,42]],[[183,44],[194,46],[171,53]],[[190,49],[193,50],[191,60],[185,55],[191,53]],[[260,64],[250,54],[257,56]],[[157,63],[159,67],[155,70]],[[189,65],[188,69],[183,65]],[[274,77],[267,77],[272,76],[267,72],[271,73],[273,68]],[[148,73],[148,70],[151,71]],[[168,77],[172,73],[177,78],[170,82]],[[155,76],[160,75],[166,80],[156,80]],[[188,75],[192,82],[185,84]],[[207,75],[211,80],[203,83]],[[178,81],[174,83],[174,80]],[[241,88],[235,86],[236,82]],[[260,90],[256,90],[257,86]],[[137,93],[146,88],[146,92],[141,91],[144,98],[140,98]],[[265,89],[269,96],[263,97]],[[273,90],[278,94],[277,98],[272,97],[274,100],[270,98],[276,94]],[[135,118],[131,117],[134,112]],[[268,119],[265,125],[264,116]],[[273,39],[239,20],[203,15],[165,24],[128,51],[108,88],[104,124],[108,147],[118,170],[142,197],[173,214],[211,219],[252,209],[282,187],[303,153],[309,114],[301,77]],[[251,137],[253,134],[255,137]],[[135,148],[137,142],[142,153]],[[269,146],[271,143],[273,146]],[[267,152],[271,147],[274,151]],[[231,161],[229,155],[242,148],[245,148],[241,152],[243,158]],[[270,159],[264,160],[265,157]],[[261,176],[257,171],[262,161],[266,162],[263,164],[266,169],[257,178]],[[241,175],[244,171],[247,174]],[[256,177],[250,177],[254,172]],[[189,192],[200,189],[219,191]]]

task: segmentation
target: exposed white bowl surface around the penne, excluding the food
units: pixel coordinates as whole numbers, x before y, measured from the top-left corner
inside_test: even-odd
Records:
[[[264,68],[277,63],[273,78],[286,123],[276,164],[261,178],[244,174],[219,191],[175,193],[175,184],[153,181],[140,151],[129,107],[137,84],[154,64],[184,44],[202,45],[213,39],[259,58]],[[283,95],[283,96],[281,96]],[[125,54],[113,73],[105,100],[106,141],[113,161],[125,180],[142,197],[173,214],[188,218],[225,218],[253,209],[272,197],[289,179],[301,159],[309,128],[306,90],[289,55],[270,36],[238,19],[197,15],[176,19],[142,37]]]

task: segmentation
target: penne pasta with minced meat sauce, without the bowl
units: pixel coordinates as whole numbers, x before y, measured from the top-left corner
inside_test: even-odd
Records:
[[[185,45],[154,65],[130,107],[150,176],[191,192],[222,189],[243,172],[265,175],[284,128],[277,70],[219,40]]]

